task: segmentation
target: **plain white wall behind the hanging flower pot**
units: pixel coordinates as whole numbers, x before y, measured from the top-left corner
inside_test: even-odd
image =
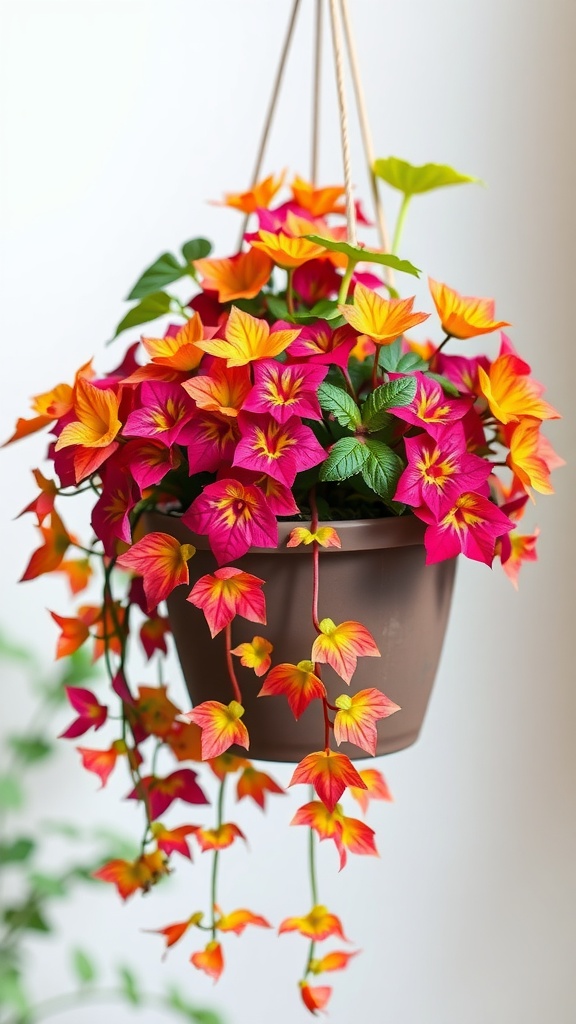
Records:
[[[467,294],[497,296],[515,342],[565,414],[549,435],[571,465],[557,474],[557,497],[529,513],[541,527],[540,562],[525,569],[518,595],[498,569],[460,566],[424,733],[384,764],[396,803],[372,815],[380,859],[357,858],[337,876],[331,851],[324,858],[323,898],[365,949],[335,979],[331,1020],[573,1024],[576,4],[351,7],[378,155],[452,163],[490,185],[416,201],[405,255]],[[205,200],[248,182],[288,8],[287,0],[3,5],[3,436],[29,395],[71,379],[92,354],[101,366],[115,357],[104,342],[120,300],[157,253],[197,233],[214,238],[220,253],[234,245],[235,213]],[[303,8],[268,168],[305,174],[310,0]],[[341,172],[326,82],[321,170],[331,182]],[[358,141],[356,177],[367,196]],[[15,586],[33,529],[30,519],[11,521],[34,493],[29,468],[41,450],[31,440],[2,453],[0,622],[48,659],[55,630],[45,606],[64,611],[65,590],[52,581]],[[3,691],[2,717],[22,719],[14,681],[4,678]],[[122,785],[93,797],[76,757],[61,753],[38,812],[59,804],[80,819],[129,827],[131,808],[116,799]],[[286,768],[278,774],[288,777]],[[304,912],[308,901],[303,836],[285,828],[297,797],[287,805],[277,802],[273,831],[247,809],[251,853],[232,851],[222,863],[224,891],[234,886],[235,899],[273,921]],[[232,938],[214,989],[187,964],[186,948],[162,965],[159,940],[139,933],[186,912],[206,869],[184,865],[165,893],[126,907],[105,887],[91,892],[63,912],[63,944],[137,956],[151,985],[178,978],[230,1024],[305,1019],[293,987],[303,940]],[[32,947],[40,996],[61,986],[61,948]],[[74,1019],[90,1024],[99,1013]],[[114,1013],[124,1019],[128,1011]]]

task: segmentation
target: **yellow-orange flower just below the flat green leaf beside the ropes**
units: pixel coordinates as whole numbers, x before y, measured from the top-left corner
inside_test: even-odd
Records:
[[[377,292],[365,285],[357,284],[354,290],[354,305],[339,305],[347,323],[366,334],[377,345],[389,345],[405,331],[421,324],[429,313],[414,313],[414,296],[409,299],[383,299]]]

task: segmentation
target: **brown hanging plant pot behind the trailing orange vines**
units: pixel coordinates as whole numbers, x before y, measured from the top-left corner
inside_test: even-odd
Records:
[[[195,545],[192,582],[217,568],[207,538],[192,534],[177,517],[152,513],[146,520],[147,530],[160,530]],[[275,665],[310,658],[316,637],[311,548],[286,547],[295,525],[301,523],[279,523],[278,548],[252,549],[235,563],[265,580],[268,625],[237,616],[234,644],[264,636],[274,644]],[[342,547],[321,550],[320,617],[362,623],[372,633],[381,657],[360,657],[349,688],[329,666],[323,666],[322,678],[331,703],[340,693],[376,686],[400,705],[400,712],[378,723],[377,753],[390,754],[413,743],[422,726],[446,632],[455,559],[425,565],[424,524],[414,516],[331,525]],[[192,702],[229,703],[234,694],[227,674],[223,632],[211,639],[204,613],[187,601],[189,593],[188,587],[177,587],[168,598],[168,612]],[[261,681],[239,658],[235,667],[246,709],[243,720],[250,734],[250,757],[300,761],[312,751],[322,750],[319,700],[296,722],[284,697],[258,698]],[[367,757],[351,743],[342,743],[340,750],[351,758]]]

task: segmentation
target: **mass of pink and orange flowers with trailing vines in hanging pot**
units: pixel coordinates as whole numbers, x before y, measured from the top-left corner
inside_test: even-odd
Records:
[[[134,286],[135,305],[117,334],[165,315],[167,329],[159,337],[143,334],[108,373],[88,362],[73,384],[37,395],[34,416],[18,420],[10,438],[44,427],[51,434],[52,474],[34,470],[40,493],[25,509],[37,519],[41,543],[23,579],[65,572],[78,594],[99,563],[104,580],[97,603],[81,604],[70,617],[51,612],[60,631],[56,656],[92,642],[121,707],[120,735],[105,750],[79,748],[82,764],[105,785],[122,762],[128,799],[143,808],[137,859],[112,861],[97,876],[126,899],[154,886],[174,854],[191,859],[192,843],[210,851],[208,910],[192,908],[160,932],[167,946],[191,930],[207,932],[207,944],[191,959],[215,979],[227,932],[271,927],[244,907],[222,910],[217,902],[219,855],[244,839],[225,820],[224,785],[235,775],[238,798],[262,808],[268,794],[283,792],[242,755],[250,722],[235,657],[253,670],[259,695],[284,697],[295,719],[311,702],[322,706],[319,749],[300,761],[290,783],[313,786],[317,799],[292,823],[307,827],[311,840],[332,840],[340,866],[348,853],[374,854],[373,830],[340,801],[347,793],[365,811],[370,798],[389,799],[386,784],[375,769],[358,771],[337,748],[345,741],[375,754],[377,723],[400,709],[375,687],[329,699],[324,666],[347,685],[358,658],[380,652],[361,623],[320,617],[320,550],[340,546],[338,520],[412,515],[425,524],[428,563],[460,552],[488,565],[497,557],[516,585],[522,563],[536,558],[537,536],[520,532],[518,523],[533,492],[551,493],[550,471],[561,464],[541,433],[559,414],[509,337],[501,334],[493,357],[447,350],[452,339],[508,326],[495,318],[491,300],[430,280],[443,334],[437,342],[411,340],[409,332],[430,312],[414,309],[413,297],[401,298],[389,274],[417,275],[416,268],[346,241],[341,187],[295,178],[288,198],[273,205],[282,186],[270,177],[225,197],[257,221],[235,255],[212,258],[203,239],[187,243],[182,259],[163,254]],[[358,213],[366,222],[360,207]],[[192,298],[165,290],[191,279]],[[65,525],[59,502],[84,492],[94,497],[86,543]],[[151,511],[165,514],[165,530],[147,525]],[[190,530],[184,542],[170,528],[175,516]],[[265,625],[265,581],[246,571],[242,558],[254,547],[278,547],[281,519],[295,520],[287,543],[308,546],[313,566],[316,639],[290,664],[275,660],[265,636],[238,646],[232,639],[236,616]],[[209,573],[194,570],[199,537],[214,556]],[[177,587],[190,588],[188,601],[202,610],[212,637],[223,633],[229,703],[209,699],[182,712],[164,683],[135,688],[128,679],[130,635],[139,635],[148,658],[166,653],[170,626],[162,605]],[[63,735],[110,722],[108,707],[90,691],[71,689],[69,696],[77,718]],[[211,825],[162,822],[175,801],[208,802],[190,767],[161,774],[158,759],[168,755],[208,763],[219,784]],[[310,912],[280,926],[310,940],[300,990],[313,1013],[330,988],[311,979],[355,955],[318,954],[319,942],[347,940],[316,891],[314,879]]]

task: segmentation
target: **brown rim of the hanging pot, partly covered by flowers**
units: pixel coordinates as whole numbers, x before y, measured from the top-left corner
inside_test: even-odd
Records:
[[[173,536],[180,543],[194,544],[199,551],[210,551],[208,538],[194,534],[181,521],[181,515],[165,512],[147,512],[143,517],[154,528],[168,532],[166,520],[172,526]],[[154,525],[156,523],[156,526]],[[310,546],[300,544],[297,548],[286,547],[289,535],[296,526],[305,526],[301,519],[283,520],[278,523],[278,546],[276,548],[250,548],[247,556],[254,555],[308,555]],[[322,548],[322,554],[337,555],[342,551],[373,551],[381,548],[409,548],[423,546],[426,524],[415,515],[387,516],[381,519],[340,519],[321,521],[319,526],[333,527],[340,538],[341,548]],[[244,555],[243,557],[246,557]]]

